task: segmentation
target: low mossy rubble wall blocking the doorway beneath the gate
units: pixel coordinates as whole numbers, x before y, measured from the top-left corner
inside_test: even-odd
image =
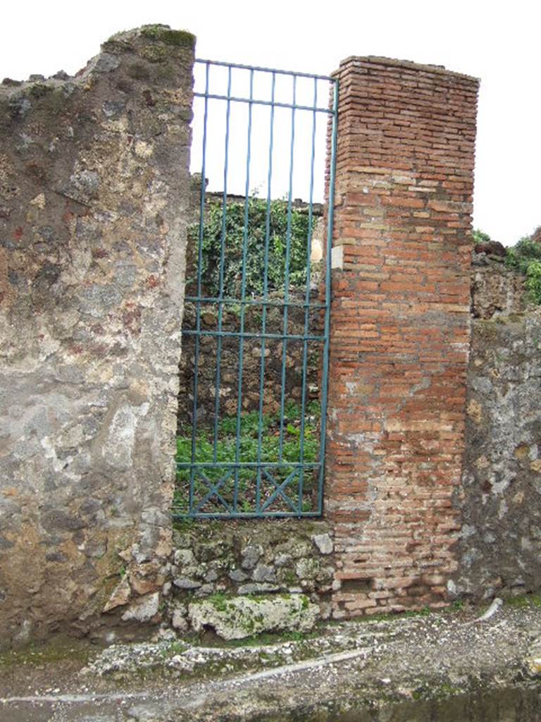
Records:
[[[189,630],[190,605],[217,595],[279,602],[301,594],[327,619],[335,572],[329,531],[316,519],[180,523],[166,589],[172,626]]]

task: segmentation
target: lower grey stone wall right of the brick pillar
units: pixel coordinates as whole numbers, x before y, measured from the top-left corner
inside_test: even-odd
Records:
[[[541,588],[541,310],[524,277],[475,258],[456,596]],[[483,310],[483,313],[480,313]],[[519,313],[522,311],[522,313]]]

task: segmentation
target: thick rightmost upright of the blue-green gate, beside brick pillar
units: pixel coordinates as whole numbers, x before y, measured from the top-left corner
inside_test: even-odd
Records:
[[[325,477],[325,442],[327,437],[327,381],[329,373],[329,335],[330,335],[330,257],[333,248],[333,219],[335,209],[335,170],[336,170],[336,136],[338,133],[338,80],[334,84],[333,124],[330,141],[330,176],[327,202],[327,247],[325,248],[325,346],[323,349],[323,370],[321,390],[321,435],[320,435],[320,482],[317,492],[317,513],[323,511],[323,479]]]

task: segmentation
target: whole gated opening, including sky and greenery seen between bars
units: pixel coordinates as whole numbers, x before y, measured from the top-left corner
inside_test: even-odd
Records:
[[[201,162],[201,196],[198,220],[192,226],[191,256],[188,253],[187,313],[182,329],[193,388],[186,389],[192,396],[189,417],[180,423],[173,513],[188,518],[320,516],[330,244],[326,244],[318,271],[316,292],[311,256],[314,197],[318,187],[322,190],[328,130],[331,161],[326,235],[332,238],[337,83],[312,74],[198,60],[195,98],[197,143],[193,155]],[[242,118],[234,115],[241,106]],[[320,126],[322,134],[318,135]],[[252,183],[263,177],[258,189],[251,191]],[[212,194],[212,203],[207,179],[209,186],[221,186]],[[299,203],[294,201],[297,188],[307,193],[302,217]],[[237,196],[232,196],[232,191]],[[283,219],[281,233],[273,226],[276,213]],[[214,256],[208,255],[211,215],[218,227]],[[232,251],[234,216],[237,251]],[[305,232],[300,241],[299,219]],[[300,261],[299,248],[304,254]],[[234,272],[232,263],[237,264]],[[250,286],[254,264],[260,268],[256,289]],[[290,328],[293,318],[296,332]],[[231,358],[232,344],[234,370],[224,367],[224,354]],[[293,351],[297,361],[291,369]],[[208,382],[209,355],[214,363],[212,383]],[[253,394],[251,400],[243,395],[247,360],[252,362],[254,356],[258,358],[257,401]],[[317,400],[311,398],[313,388],[309,388],[315,359]],[[300,380],[295,399],[289,395],[291,373]],[[250,374],[253,378],[253,364]],[[231,388],[232,375],[234,412],[232,400],[225,405],[222,398],[224,377]],[[274,398],[269,401],[270,375]],[[209,388],[214,399],[210,408],[207,403],[203,409],[202,393],[208,399]],[[255,408],[250,408],[248,401]]]

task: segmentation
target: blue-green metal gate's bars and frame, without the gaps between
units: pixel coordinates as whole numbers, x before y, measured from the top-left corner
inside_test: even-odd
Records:
[[[338,132],[338,79],[336,77],[330,77],[330,76],[322,76],[322,75],[315,75],[315,74],[309,74],[309,73],[302,73],[302,72],[296,72],[296,71],[284,71],[284,70],[278,70],[278,69],[271,69],[271,68],[263,68],[259,66],[247,66],[242,64],[234,64],[234,63],[226,63],[222,61],[211,61],[211,60],[204,60],[204,59],[195,59],[195,63],[197,64],[204,64],[206,66],[206,74],[205,74],[205,92],[194,92],[195,97],[203,97],[204,99],[204,114],[203,114],[203,153],[202,153],[202,168],[201,168],[201,200],[200,200],[200,212],[199,212],[199,233],[198,233],[198,281],[197,281],[197,295],[196,296],[186,296],[185,301],[188,303],[194,303],[196,308],[196,322],[195,322],[195,329],[182,329],[183,335],[193,335],[195,336],[195,355],[194,355],[194,362],[193,362],[193,414],[192,414],[192,442],[191,442],[191,459],[190,462],[177,462],[177,470],[178,469],[189,469],[190,470],[190,487],[188,492],[188,512],[186,513],[179,513],[178,511],[175,511],[175,508],[173,508],[173,518],[268,518],[268,517],[320,517],[322,516],[323,512],[323,484],[325,479],[325,443],[326,443],[326,435],[327,435],[327,387],[328,387],[328,367],[329,367],[329,347],[330,347],[330,303],[331,303],[331,251],[332,251],[332,238],[333,238],[333,217],[334,217],[334,196],[335,196],[335,164],[336,164],[336,145],[337,145],[337,132]],[[216,95],[209,92],[209,69],[211,66],[222,66],[226,67],[228,69],[228,87],[227,87],[227,93],[226,95]],[[234,97],[231,95],[231,82],[232,82],[232,69],[241,69],[241,70],[247,70],[250,71],[250,97],[249,98],[242,98],[242,97]],[[271,101],[268,100],[256,100],[254,99],[252,95],[253,91],[253,77],[255,72],[265,72],[265,73],[271,73],[273,77],[273,84],[272,84],[272,96]],[[293,78],[293,102],[291,104],[289,103],[278,103],[276,100],[274,100],[274,90],[275,90],[275,83],[276,83],[276,77],[280,76],[291,76]],[[303,77],[303,78],[312,78],[315,82],[315,100],[314,100],[314,106],[305,106],[305,105],[297,105],[295,103],[295,90],[296,90],[296,78],[297,77]],[[317,82],[318,81],[325,81],[330,84],[330,95],[331,95],[331,102],[329,104],[329,107],[327,108],[320,108],[317,106]],[[221,287],[219,290],[219,295],[216,298],[209,298],[204,297],[201,295],[201,265],[202,265],[202,250],[203,250],[203,218],[204,218],[204,212],[205,212],[205,199],[206,199],[206,183],[205,183],[205,171],[206,171],[206,134],[207,134],[207,122],[208,122],[208,100],[224,100],[227,103],[227,109],[226,109],[226,134],[225,134],[225,143],[226,143],[226,149],[225,149],[225,159],[224,159],[224,191],[223,196],[224,199],[222,201],[222,209],[223,209],[223,226],[222,226],[222,236],[221,236],[221,266],[220,266],[220,275],[221,275]],[[247,139],[247,173],[246,173],[246,191],[245,191],[245,227],[243,231],[243,273],[242,273],[242,292],[241,292],[241,298],[240,299],[227,299],[227,297],[224,296],[224,287],[223,287],[223,270],[224,270],[224,243],[225,243],[225,224],[226,224],[226,206],[227,206],[227,170],[228,170],[228,145],[229,145],[229,113],[231,108],[231,103],[248,103],[249,104],[249,116],[248,116],[248,139]],[[251,142],[251,127],[252,127],[252,106],[253,105],[270,105],[271,106],[271,140],[270,140],[270,147],[269,147],[269,165],[268,165],[268,191],[267,191],[267,227],[265,230],[265,268],[268,266],[268,248],[269,248],[269,226],[268,226],[268,214],[270,212],[270,204],[271,204],[271,178],[272,178],[272,154],[273,154],[273,118],[274,118],[274,108],[291,108],[291,157],[290,157],[290,170],[289,170],[289,193],[288,193],[288,230],[286,235],[286,279],[285,279],[285,287],[284,287],[284,302],[280,305],[284,308],[284,321],[283,321],[283,334],[265,334],[265,317],[266,317],[266,310],[269,305],[276,305],[276,303],[273,303],[272,301],[268,300],[268,288],[265,285],[264,291],[263,291],[263,300],[250,301],[246,300],[245,298],[245,262],[246,262],[246,251],[247,251],[247,215],[248,215],[248,199],[249,199],[249,177],[250,177],[250,142]],[[309,192],[309,236],[308,236],[308,245],[307,245],[307,290],[306,290],[306,296],[305,296],[305,303],[302,304],[302,306],[305,309],[305,318],[308,318],[309,310],[313,308],[320,308],[325,310],[325,318],[324,318],[324,328],[323,328],[323,336],[310,336],[307,334],[307,320],[305,320],[305,333],[303,336],[293,336],[291,334],[287,334],[287,312],[289,306],[299,306],[301,304],[295,304],[295,303],[288,303],[289,300],[289,244],[291,242],[291,207],[292,207],[292,174],[293,174],[293,152],[294,152],[294,116],[296,110],[309,110],[312,111],[314,116],[313,121],[313,131],[312,131],[312,157],[311,157],[311,177],[310,177],[310,192]],[[329,181],[328,185],[325,184],[325,212],[327,214],[327,238],[325,241],[325,303],[317,303],[317,304],[311,304],[309,303],[309,287],[310,287],[310,249],[311,249],[311,243],[312,243],[312,232],[313,232],[313,225],[312,225],[312,207],[313,207],[313,185],[314,185],[314,158],[315,158],[315,127],[316,127],[316,113],[323,112],[327,113],[327,116],[329,118],[328,126],[327,126],[327,133],[330,131],[330,148],[327,144],[327,154],[330,153],[330,159],[328,159],[326,168],[329,169]],[[328,141],[328,135],[327,135],[327,141]],[[266,274],[265,274],[266,276]],[[219,321],[218,321],[218,330],[217,331],[201,331],[201,304],[202,303],[216,303],[219,308]],[[240,321],[240,330],[239,333],[231,333],[229,331],[222,331],[221,329],[221,314],[223,313],[223,308],[226,303],[240,303],[241,304],[241,321]],[[255,334],[255,337],[260,337],[262,339],[262,365],[260,370],[260,409],[259,409],[259,429],[258,429],[258,461],[255,462],[240,462],[239,461],[239,434],[240,434],[240,417],[241,417],[241,399],[242,399],[242,364],[243,364],[243,342],[246,337],[253,337],[254,334],[246,334],[244,331],[244,315],[245,315],[245,309],[247,304],[249,303],[257,303],[257,305],[261,305],[263,308],[263,321],[262,321],[262,333],[261,334]],[[216,411],[215,411],[215,419],[214,419],[214,461],[212,463],[208,462],[198,462],[196,461],[196,435],[197,435],[197,400],[198,400],[198,360],[199,360],[199,339],[201,336],[215,336],[216,339],[218,339],[219,349],[218,349],[218,357],[216,362],[216,374],[217,374],[217,383],[216,383]],[[239,337],[239,400],[237,402],[237,451],[236,451],[236,459],[234,463],[229,462],[218,462],[216,458],[216,443],[217,443],[217,436],[216,436],[216,429],[219,419],[219,373],[220,373],[220,361],[221,361],[221,339],[224,336],[238,336]],[[289,339],[296,339],[296,340],[302,340],[304,342],[304,353],[303,353],[303,388],[302,388],[302,429],[301,429],[301,450],[300,450],[300,461],[299,463],[284,463],[282,461],[281,456],[281,444],[280,444],[280,453],[278,455],[278,461],[276,462],[263,462],[260,459],[260,452],[261,452],[261,434],[262,434],[262,421],[263,421],[263,378],[264,378],[264,350],[265,350],[265,339],[266,338],[276,338],[281,339],[283,341],[283,357],[282,357],[282,390],[281,390],[281,419],[280,419],[280,427],[281,427],[281,441],[283,438],[283,415],[284,415],[284,401],[285,401],[285,373],[286,373],[286,361],[285,361],[285,355],[286,355],[286,342]],[[320,417],[320,445],[318,450],[318,461],[315,463],[309,463],[307,464],[303,459],[303,450],[304,450],[304,418],[306,413],[306,386],[307,386],[307,342],[308,341],[322,341],[323,348],[322,348],[322,381],[321,381],[321,396],[320,396],[320,404],[321,404],[321,417]],[[265,467],[277,467],[277,466],[287,466],[290,469],[293,469],[291,471],[291,474],[288,474],[285,480],[280,481],[274,479],[272,474],[270,474],[268,471],[265,471]],[[254,512],[242,512],[237,509],[237,501],[238,501],[238,474],[239,469],[250,467],[250,466],[256,466],[257,467],[257,477],[256,477],[256,510]],[[208,479],[206,477],[206,474],[203,474],[203,470],[208,468],[222,468],[224,469],[225,473],[224,476],[221,477],[216,482],[211,481],[211,479]],[[304,511],[302,510],[302,488],[303,488],[303,474],[304,469],[307,468],[318,468],[319,474],[318,474],[318,482],[317,482],[317,508],[315,510],[309,510]],[[299,469],[299,471],[297,471]],[[289,486],[291,481],[294,480],[297,473],[299,473],[299,493],[297,495],[297,508],[294,508],[294,505],[291,504],[291,500],[289,497],[284,493],[286,490],[286,487]],[[195,485],[195,477],[196,475],[200,477],[203,481],[203,483],[206,484],[208,487],[208,492],[206,495],[203,496],[201,500],[194,501],[194,485]],[[222,484],[226,482],[232,475],[234,475],[234,498],[232,503],[232,508],[229,508],[229,505],[226,503],[223,497],[221,497],[219,490]],[[275,485],[275,489],[271,493],[271,496],[265,500],[263,505],[261,505],[260,500],[260,483],[263,479],[263,475],[268,478],[269,481],[273,482]],[[224,505],[224,507],[227,510],[227,513],[221,513],[221,512],[212,512],[212,513],[206,513],[200,511],[201,507],[203,507],[208,500],[213,499],[215,497],[219,502]],[[274,500],[276,500],[278,497],[282,497],[284,501],[286,501],[292,508],[290,511],[279,511],[279,512],[269,512],[265,511],[265,508],[268,507],[268,505],[271,505]]]

